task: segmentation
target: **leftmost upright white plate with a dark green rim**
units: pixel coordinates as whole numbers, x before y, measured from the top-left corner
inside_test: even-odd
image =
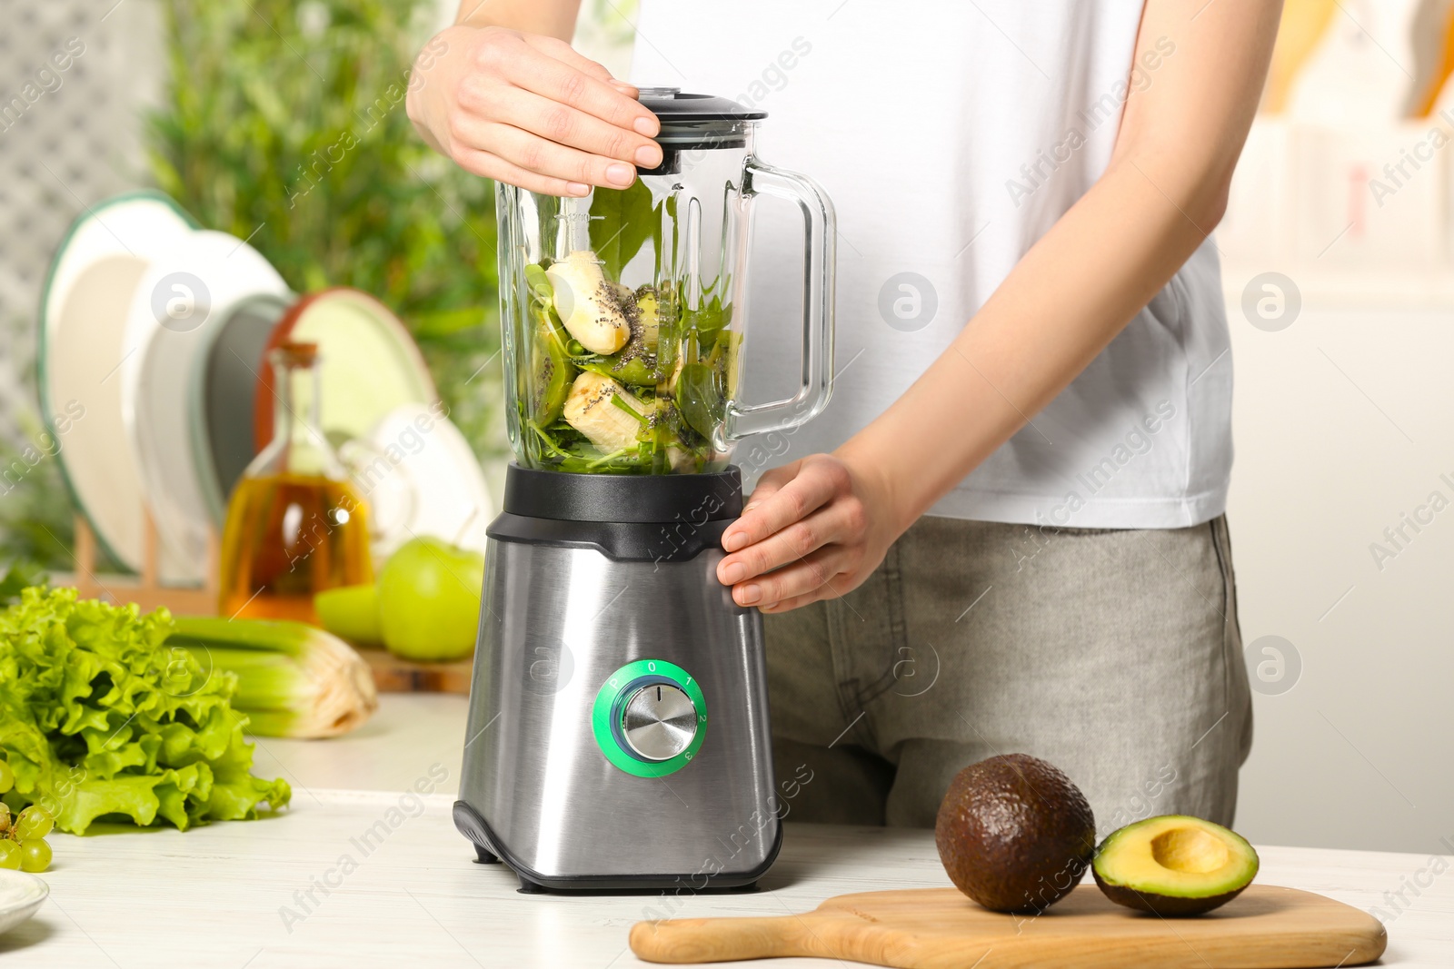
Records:
[[[192,225],[157,192],[99,202],[61,240],[41,298],[36,382],[47,430],[96,539],[131,569],[141,568],[142,488],[122,421],[122,331],[151,257]]]

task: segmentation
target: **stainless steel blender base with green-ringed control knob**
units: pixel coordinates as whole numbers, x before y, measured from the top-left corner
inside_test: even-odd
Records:
[[[512,519],[486,554],[457,827],[525,886],[755,882],[781,825],[762,617],[715,577],[727,523],[699,526],[686,561],[621,561],[586,524],[574,545],[502,540]],[[653,709],[669,731],[641,731]]]

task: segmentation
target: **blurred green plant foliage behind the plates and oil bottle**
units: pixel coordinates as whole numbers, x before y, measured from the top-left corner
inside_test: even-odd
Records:
[[[160,187],[298,292],[355,286],[406,321],[451,418],[502,450],[493,185],[404,112],[432,0],[163,0]]]

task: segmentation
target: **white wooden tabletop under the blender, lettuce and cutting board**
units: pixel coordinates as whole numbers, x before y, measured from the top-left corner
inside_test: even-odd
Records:
[[[526,896],[516,892],[507,869],[471,860],[470,844],[449,819],[461,738],[445,737],[445,728],[462,729],[462,705],[451,705],[454,697],[429,699],[445,703],[388,697],[381,716],[365,728],[372,735],[320,744],[263,741],[272,763],[286,766],[298,784],[294,806],[282,816],[186,834],[52,835],[55,863],[45,875],[51,898],[33,920],[0,936],[0,965],[644,965],[627,949],[627,930],[662,912],[659,896]],[[445,761],[451,750],[454,760]],[[436,792],[419,803],[401,800],[416,780],[430,780],[435,763],[448,770]],[[348,776],[382,789],[324,786]],[[364,844],[364,834],[378,831],[378,822],[384,834]],[[1259,851],[1259,880],[1365,909],[1380,907],[1390,915],[1384,892],[1397,892],[1416,876],[1429,880],[1419,875],[1429,860],[1412,854]],[[782,854],[762,882],[765,891],[689,896],[670,914],[781,915],[808,911],[845,892],[944,885],[948,880],[929,831],[788,824]],[[1383,965],[1454,966],[1454,872],[1419,892],[1405,891],[1410,905],[1389,925]]]

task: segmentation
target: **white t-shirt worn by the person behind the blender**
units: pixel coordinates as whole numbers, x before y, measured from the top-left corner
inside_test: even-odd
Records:
[[[758,155],[811,176],[838,211],[833,400],[772,463],[832,450],[881,414],[1095,183],[1128,84],[1176,57],[1175,38],[1153,41],[1131,73],[1140,16],[1138,0],[641,0],[632,81],[766,110]],[[790,205],[755,208],[743,395],[762,401],[798,382],[803,228]],[[1221,299],[1207,241],[931,513],[1079,527],[1220,514]]]

